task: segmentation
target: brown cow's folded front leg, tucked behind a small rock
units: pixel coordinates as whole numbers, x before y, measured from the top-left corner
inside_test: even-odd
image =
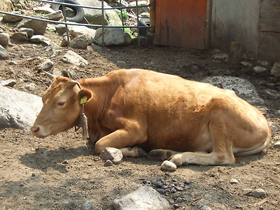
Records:
[[[102,137],[95,144],[94,151],[99,154],[106,147],[119,148],[122,151],[124,157],[139,157],[142,152],[139,148],[127,148],[136,144],[142,144],[146,141],[147,137],[144,132],[132,132],[130,130],[116,130],[115,132]],[[139,153],[139,155],[135,155]],[[143,155],[142,155],[143,156]]]

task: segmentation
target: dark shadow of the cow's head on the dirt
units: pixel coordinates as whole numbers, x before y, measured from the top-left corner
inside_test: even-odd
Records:
[[[64,148],[50,151],[48,148],[38,148],[35,153],[27,153],[20,155],[20,161],[23,165],[33,169],[39,169],[47,172],[52,168],[58,172],[66,173],[69,167],[68,160],[78,158],[80,156],[94,155],[91,147],[80,146],[78,148]]]

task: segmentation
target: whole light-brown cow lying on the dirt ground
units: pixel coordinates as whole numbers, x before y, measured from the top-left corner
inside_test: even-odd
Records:
[[[79,80],[54,76],[42,99],[34,136],[78,125],[85,103],[95,153],[113,147],[124,157],[139,157],[140,147],[168,159],[162,169],[170,162],[234,164],[235,155],[259,153],[272,139],[262,113],[231,90],[155,71],[120,69]]]

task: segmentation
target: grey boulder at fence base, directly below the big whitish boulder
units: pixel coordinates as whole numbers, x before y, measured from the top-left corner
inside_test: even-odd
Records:
[[[94,38],[95,43],[102,45],[102,28],[97,29]],[[123,29],[104,28],[104,45],[125,45],[125,33]]]

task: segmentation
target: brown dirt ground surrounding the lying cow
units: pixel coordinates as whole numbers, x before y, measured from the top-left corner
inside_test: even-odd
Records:
[[[225,61],[215,61],[211,51],[165,46],[71,49],[89,62],[78,68],[59,60],[69,50],[56,44],[61,37],[49,31],[45,36],[50,38],[51,47],[33,43],[8,47],[10,59],[0,61],[1,77],[15,79],[13,88],[41,96],[49,80],[36,67],[39,58],[50,58],[55,69],[75,71],[80,78],[102,76],[119,68],[152,69],[191,80],[238,76],[255,85],[265,100],[262,106],[268,120],[280,126],[279,97],[267,94],[267,90],[280,93],[280,83],[269,71],[254,73],[242,66],[231,69]],[[10,60],[16,65],[9,65]],[[250,62],[257,64],[256,60]],[[26,90],[29,83],[36,84],[36,89]],[[190,181],[186,190],[174,194],[185,200],[165,196],[172,206],[178,204],[178,209],[199,209],[200,202],[212,209],[280,209],[280,152],[273,146],[279,131],[273,137],[264,152],[239,159],[235,165],[187,165],[167,173],[160,170],[161,162],[149,158],[124,158],[120,165],[104,167],[92,148],[85,147],[82,134],[73,130],[45,139],[28,131],[0,130],[0,209],[111,209],[116,197],[136,190],[144,181],[146,185],[151,181]],[[239,182],[231,184],[231,179]],[[244,195],[246,188],[262,188],[267,196]]]

